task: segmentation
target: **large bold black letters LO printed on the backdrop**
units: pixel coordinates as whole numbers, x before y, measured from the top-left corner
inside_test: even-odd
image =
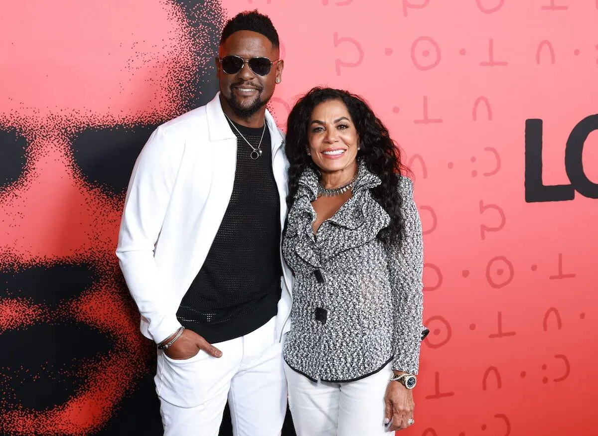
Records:
[[[542,120],[525,121],[525,200],[533,202],[563,202],[573,200],[575,191],[589,199],[598,199],[598,183],[585,175],[582,155],[585,140],[598,130],[598,114],[579,121],[569,133],[565,145],[565,172],[570,185],[542,183]]]

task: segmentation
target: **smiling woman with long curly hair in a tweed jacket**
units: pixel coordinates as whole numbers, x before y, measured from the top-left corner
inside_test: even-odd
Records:
[[[284,345],[298,436],[375,436],[413,424],[422,338],[422,227],[388,130],[345,91],[314,88],[289,114],[294,272]]]

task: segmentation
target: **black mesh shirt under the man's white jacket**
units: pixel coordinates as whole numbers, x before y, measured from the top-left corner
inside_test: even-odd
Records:
[[[263,154],[237,136],[233,193],[202,269],[176,316],[210,343],[251,333],[276,315],[280,298],[280,199],[272,172],[270,132],[234,124]]]

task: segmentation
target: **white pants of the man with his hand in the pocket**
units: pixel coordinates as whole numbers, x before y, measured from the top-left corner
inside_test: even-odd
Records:
[[[164,436],[217,436],[227,400],[234,435],[280,435],[286,381],[276,318],[252,333],[213,345],[222,351],[220,358],[200,351],[175,360],[158,350],[154,380]]]

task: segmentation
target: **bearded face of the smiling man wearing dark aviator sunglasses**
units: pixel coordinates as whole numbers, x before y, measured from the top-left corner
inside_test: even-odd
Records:
[[[280,55],[278,48],[273,47],[266,36],[251,31],[239,31],[230,35],[220,46],[219,57],[240,56],[245,60],[252,57],[267,57],[276,61]],[[219,59],[216,59],[220,92],[237,117],[251,117],[262,108],[274,93],[276,79],[282,78],[283,62],[275,63],[269,74],[255,74],[245,63],[236,74],[222,71]]]

